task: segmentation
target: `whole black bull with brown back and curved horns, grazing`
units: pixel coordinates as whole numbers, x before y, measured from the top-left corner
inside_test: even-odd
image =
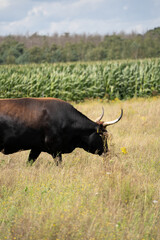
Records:
[[[91,121],[71,104],[54,98],[0,100],[0,151],[4,154],[29,150],[33,163],[41,152],[61,162],[63,153],[75,148],[102,155],[108,151],[106,126],[118,122],[101,122],[104,114]]]

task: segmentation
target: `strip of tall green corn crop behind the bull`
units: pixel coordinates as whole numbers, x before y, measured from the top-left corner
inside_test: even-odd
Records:
[[[127,99],[160,93],[160,60],[0,66],[0,98]]]

